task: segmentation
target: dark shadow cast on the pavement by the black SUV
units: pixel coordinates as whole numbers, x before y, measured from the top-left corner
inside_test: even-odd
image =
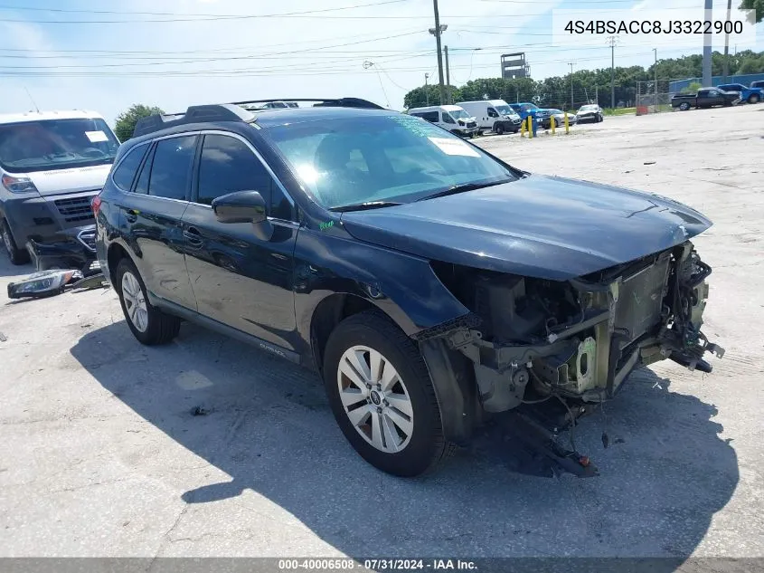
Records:
[[[145,348],[120,321],[71,354],[137,415],[231,476],[184,492],[184,519],[252,490],[355,557],[671,557],[652,570],[674,570],[739,479],[715,407],[669,391],[649,369],[575,429],[599,477],[511,472],[509,445],[494,435],[438,473],[402,480],[354,453],[316,376],[231,339],[184,323],[174,344]]]

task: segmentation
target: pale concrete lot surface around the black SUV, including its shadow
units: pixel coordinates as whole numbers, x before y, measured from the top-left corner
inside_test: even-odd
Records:
[[[0,255],[0,555],[764,556],[762,128],[759,104],[477,139],[714,221],[695,244],[727,354],[711,375],[632,375],[576,428],[589,480],[515,473],[486,442],[393,478],[345,443],[311,373],[188,324],[142,347],[113,291],[8,301],[33,269]],[[605,428],[622,443],[604,449]]]

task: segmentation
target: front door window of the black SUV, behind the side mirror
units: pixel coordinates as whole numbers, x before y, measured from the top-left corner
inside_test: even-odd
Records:
[[[247,144],[226,135],[205,135],[195,202],[212,205],[217,197],[236,191],[258,191],[270,216],[293,218],[287,197]]]

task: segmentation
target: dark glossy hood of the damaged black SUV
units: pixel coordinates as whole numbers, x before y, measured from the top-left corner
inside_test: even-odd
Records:
[[[663,251],[712,225],[665,197],[545,176],[349,212],[342,223],[361,241],[405,253],[559,281]]]

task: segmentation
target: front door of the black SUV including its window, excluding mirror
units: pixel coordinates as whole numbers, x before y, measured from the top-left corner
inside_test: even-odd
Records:
[[[259,339],[294,349],[294,202],[255,148],[228,132],[203,135],[193,198],[183,217],[186,266],[200,314]],[[220,223],[212,200],[259,191],[275,227],[269,241],[250,223]]]

